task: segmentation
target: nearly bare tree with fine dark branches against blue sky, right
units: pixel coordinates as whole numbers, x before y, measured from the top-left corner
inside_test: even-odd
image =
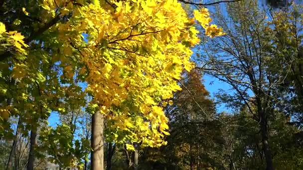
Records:
[[[250,117],[258,122],[266,169],[272,170],[271,120],[276,117],[278,103],[283,103],[284,94],[276,89],[283,88],[285,68],[276,65],[276,74],[270,72],[273,69],[270,59],[275,55],[271,51],[274,37],[267,26],[267,13],[257,4],[257,1],[228,4],[228,15],[217,10],[217,22],[226,35],[205,43],[205,54],[199,59],[206,66],[200,68],[204,73],[229,84],[234,91],[223,95],[221,92],[218,95],[221,101],[236,109],[245,105]]]

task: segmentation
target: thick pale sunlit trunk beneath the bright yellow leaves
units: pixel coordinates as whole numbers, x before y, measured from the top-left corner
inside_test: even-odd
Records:
[[[104,170],[104,117],[100,111],[92,115],[91,170]]]

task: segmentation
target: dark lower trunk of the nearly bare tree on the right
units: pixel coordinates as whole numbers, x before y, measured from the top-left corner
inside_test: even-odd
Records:
[[[261,134],[262,134],[263,152],[264,152],[265,161],[266,161],[266,170],[275,170],[273,167],[271,149],[270,149],[270,146],[268,143],[267,119],[266,119],[264,113],[261,116],[260,128],[261,128]]]

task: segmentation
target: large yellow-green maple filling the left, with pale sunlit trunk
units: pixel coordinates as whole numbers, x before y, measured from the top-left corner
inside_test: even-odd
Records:
[[[11,116],[31,132],[28,170],[39,122],[51,111],[66,114],[69,104],[84,105],[76,80],[86,82],[85,93],[93,96],[92,169],[103,168],[104,119],[111,122],[116,143],[165,144],[167,118],[159,102],[180,89],[176,79],[193,67],[196,20],[206,35],[224,34],[210,24],[206,8],[194,10],[191,18],[176,0],[7,1],[1,6],[1,136],[12,134]]]

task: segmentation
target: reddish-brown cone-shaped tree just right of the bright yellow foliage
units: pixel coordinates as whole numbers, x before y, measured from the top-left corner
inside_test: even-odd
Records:
[[[185,72],[180,84],[183,89],[167,103],[170,136],[160,149],[146,149],[142,169],[205,169],[224,168],[220,152],[223,147],[221,126],[214,103],[202,84],[201,72]],[[147,164],[148,163],[148,164]]]

